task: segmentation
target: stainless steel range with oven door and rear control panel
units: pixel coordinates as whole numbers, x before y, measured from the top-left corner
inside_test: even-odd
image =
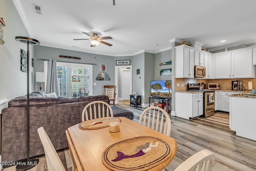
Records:
[[[202,117],[206,118],[215,114],[215,91],[214,90],[200,90],[200,83],[188,83],[189,91],[203,92],[204,100],[204,114]]]

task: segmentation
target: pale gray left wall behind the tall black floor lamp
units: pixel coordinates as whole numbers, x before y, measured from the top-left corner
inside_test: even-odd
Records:
[[[0,16],[4,18],[4,45],[0,45],[0,101],[26,95],[27,73],[20,71],[20,49],[27,45],[15,40],[15,36],[26,36],[28,32],[12,2],[1,0]],[[30,62],[34,57],[34,46],[30,45]],[[30,63],[30,92],[33,90],[34,68]]]

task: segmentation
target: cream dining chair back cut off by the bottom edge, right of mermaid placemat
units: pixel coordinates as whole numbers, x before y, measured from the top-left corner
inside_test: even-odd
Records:
[[[214,165],[215,156],[208,149],[199,151],[192,155],[181,165],[179,165],[174,171],[210,171]]]

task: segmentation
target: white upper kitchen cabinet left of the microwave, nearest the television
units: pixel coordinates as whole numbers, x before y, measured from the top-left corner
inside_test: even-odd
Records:
[[[194,78],[194,49],[175,47],[175,78]]]

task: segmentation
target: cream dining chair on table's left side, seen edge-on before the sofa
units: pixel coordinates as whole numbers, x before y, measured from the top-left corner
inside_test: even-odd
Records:
[[[51,140],[46,134],[43,127],[37,129],[40,140],[44,146],[47,167],[49,171],[66,171],[64,165],[60,161],[56,150],[54,149]]]

